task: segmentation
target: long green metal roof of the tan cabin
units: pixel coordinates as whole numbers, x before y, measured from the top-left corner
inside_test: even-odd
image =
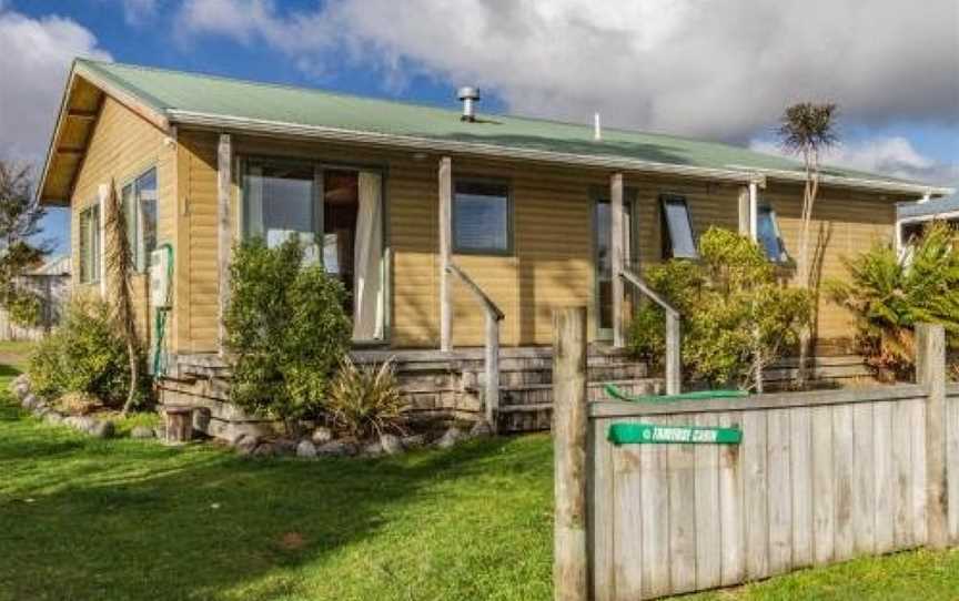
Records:
[[[597,141],[592,123],[484,114],[482,105],[476,122],[464,122],[458,111],[436,106],[121,63],[78,59],[73,73],[110,95],[121,96],[121,102],[125,98],[138,103],[139,112],[152,113],[160,125],[182,123],[335,137],[737,181],[757,175],[789,181],[802,177],[798,161],[743,146],[613,128],[604,128]],[[904,194],[930,187],[846,169],[827,167],[822,173],[825,183],[850,187]],[[933,194],[951,193],[931,187]]]

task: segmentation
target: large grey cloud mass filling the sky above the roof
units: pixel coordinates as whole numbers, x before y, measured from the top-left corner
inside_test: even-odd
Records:
[[[301,65],[430,73],[574,121],[745,142],[806,99],[867,124],[959,121],[955,0],[186,0],[181,17]]]

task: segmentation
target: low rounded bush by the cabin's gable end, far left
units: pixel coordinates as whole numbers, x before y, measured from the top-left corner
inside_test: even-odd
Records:
[[[107,303],[74,297],[60,327],[37,345],[28,373],[33,388],[48,398],[82,393],[107,405],[122,404],[130,386],[127,346]]]

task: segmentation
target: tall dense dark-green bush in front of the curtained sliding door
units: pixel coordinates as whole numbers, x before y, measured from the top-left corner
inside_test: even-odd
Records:
[[[303,264],[295,238],[276,248],[254,238],[234,256],[224,318],[234,355],[230,398],[293,429],[317,414],[349,349],[346,292],[322,265]]]

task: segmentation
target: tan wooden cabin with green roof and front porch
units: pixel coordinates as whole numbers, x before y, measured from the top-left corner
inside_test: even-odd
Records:
[[[151,347],[155,313],[168,313],[159,348],[170,381],[205,374],[212,383],[223,368],[230,253],[245,236],[310,240],[353,295],[357,355],[431,366],[411,377],[411,394],[434,408],[461,403],[470,386],[493,386],[483,383],[484,361],[542,364],[552,310],[564,305],[588,307],[597,365],[628,365],[616,352],[633,295],[623,275],[695,256],[697,234],[711,225],[753,236],[788,272],[804,182],[795,161],[484,114],[466,96],[461,113],[77,60],[39,194],[72,208],[74,288],[102,294],[111,184],[120,194]],[[950,193],[839,169],[821,182],[814,232],[822,278],[842,273],[844,255],[894,240],[897,202]],[[165,303],[147,275],[161,247],[172,254]],[[825,298],[817,324],[820,348],[852,335],[850,316]],[[506,371],[504,390],[513,386]],[[453,380],[437,384],[437,374]]]

